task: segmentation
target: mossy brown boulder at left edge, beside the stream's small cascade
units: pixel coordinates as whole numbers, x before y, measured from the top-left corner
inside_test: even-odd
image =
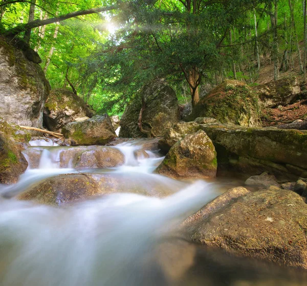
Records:
[[[28,162],[21,151],[31,135],[14,124],[0,119],[0,183],[16,183]]]

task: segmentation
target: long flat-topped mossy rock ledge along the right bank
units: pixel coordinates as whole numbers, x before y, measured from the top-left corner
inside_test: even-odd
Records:
[[[307,175],[307,131],[202,124],[217,152],[218,174],[248,178],[269,172],[297,180]]]

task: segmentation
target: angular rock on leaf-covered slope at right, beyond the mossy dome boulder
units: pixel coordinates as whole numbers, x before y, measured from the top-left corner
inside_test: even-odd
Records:
[[[288,77],[266,84],[257,85],[255,91],[262,105],[267,107],[285,106],[294,102],[300,93],[299,82],[295,77]]]

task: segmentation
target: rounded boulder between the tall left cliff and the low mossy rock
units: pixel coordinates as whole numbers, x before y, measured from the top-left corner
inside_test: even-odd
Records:
[[[51,131],[61,131],[67,123],[88,119],[93,111],[85,102],[70,90],[61,88],[51,90],[43,109],[43,123]]]

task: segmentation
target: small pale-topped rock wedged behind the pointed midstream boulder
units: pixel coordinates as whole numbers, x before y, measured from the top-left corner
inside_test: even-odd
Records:
[[[197,122],[179,122],[167,130],[164,137],[159,140],[158,146],[162,153],[166,154],[176,142],[198,130],[200,130],[200,125]]]

